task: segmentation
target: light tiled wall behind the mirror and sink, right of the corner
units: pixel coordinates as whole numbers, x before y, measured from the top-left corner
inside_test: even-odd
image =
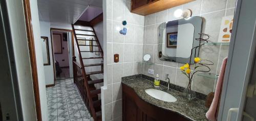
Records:
[[[202,32],[209,34],[211,42],[217,42],[223,16],[233,15],[236,0],[197,0],[160,11],[145,16],[144,22],[144,44],[143,54],[151,54],[153,56],[154,65],[144,65],[144,74],[155,77],[159,74],[160,79],[164,80],[165,74],[169,74],[171,83],[186,87],[188,79],[181,74],[179,67],[183,64],[176,62],[168,62],[159,60],[158,54],[158,33],[159,26],[162,22],[175,20],[174,11],[177,9],[190,9],[193,16],[201,16],[203,18]],[[228,54],[228,45],[203,45],[199,51],[199,57],[214,62],[210,66],[211,73],[219,74],[220,66],[224,57]],[[148,68],[154,69],[154,76],[147,74]],[[214,91],[217,79],[205,78],[196,75],[193,81],[192,89],[204,94]]]

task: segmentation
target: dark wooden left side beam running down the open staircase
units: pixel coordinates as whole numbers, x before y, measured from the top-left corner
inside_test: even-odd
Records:
[[[90,90],[89,90],[88,79],[87,79],[87,76],[86,76],[86,69],[84,68],[84,64],[83,64],[83,61],[82,61],[82,56],[81,56],[81,52],[80,52],[80,48],[79,48],[79,44],[78,44],[78,41],[77,41],[76,32],[75,32],[75,28],[74,28],[73,24],[72,24],[72,30],[73,30],[73,33],[74,33],[74,36],[75,36],[75,41],[76,41],[77,51],[78,51],[78,55],[79,55],[80,65],[82,66],[82,76],[83,76],[83,79],[84,79],[84,85],[86,86],[86,93],[88,95],[87,99],[89,101],[89,108],[91,110],[93,118],[97,119],[97,115],[96,115],[95,109],[93,107],[93,101],[92,101],[92,98],[91,98],[91,93],[90,93]]]

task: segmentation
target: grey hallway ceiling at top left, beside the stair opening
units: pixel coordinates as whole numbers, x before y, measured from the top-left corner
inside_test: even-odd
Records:
[[[102,0],[37,0],[39,20],[73,23],[89,5],[102,8]]]

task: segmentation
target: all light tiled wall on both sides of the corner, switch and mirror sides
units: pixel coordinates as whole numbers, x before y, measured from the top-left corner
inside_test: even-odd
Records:
[[[106,58],[107,89],[104,91],[105,120],[121,120],[122,94],[121,77],[134,74],[147,74],[147,69],[154,69],[163,79],[168,73],[173,84],[185,87],[187,78],[180,73],[182,65],[176,62],[161,61],[157,57],[158,27],[162,22],[177,19],[173,13],[177,9],[190,9],[193,16],[203,18],[203,33],[210,35],[210,41],[216,42],[223,16],[232,15],[236,0],[197,0],[182,6],[164,10],[147,16],[130,12],[131,0],[106,0]],[[121,21],[127,21],[127,34],[121,35]],[[215,63],[212,73],[218,73],[224,57],[227,56],[228,45],[204,45],[200,56]],[[115,63],[113,55],[119,54],[119,62]],[[154,65],[137,63],[142,61],[143,54],[151,54]],[[148,75],[148,76],[152,76]],[[208,94],[215,88],[215,79],[195,76],[193,90]]]

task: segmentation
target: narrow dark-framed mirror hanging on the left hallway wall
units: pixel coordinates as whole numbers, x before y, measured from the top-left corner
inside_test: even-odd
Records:
[[[42,45],[42,60],[44,62],[44,65],[50,65],[48,37],[41,37],[41,45]]]

